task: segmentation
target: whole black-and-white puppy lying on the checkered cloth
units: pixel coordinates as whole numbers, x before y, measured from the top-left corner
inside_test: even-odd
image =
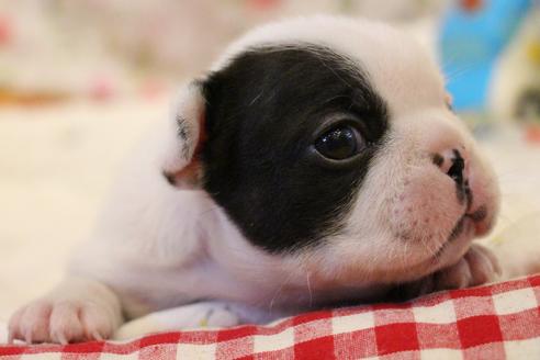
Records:
[[[181,89],[68,277],[12,316],[11,338],[263,323],[481,284],[499,271],[472,243],[494,225],[497,189],[403,32],[266,25]]]

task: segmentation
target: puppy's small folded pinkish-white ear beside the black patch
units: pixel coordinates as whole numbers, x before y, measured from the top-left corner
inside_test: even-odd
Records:
[[[164,140],[162,175],[170,184],[181,189],[199,189],[201,185],[204,110],[202,82],[193,81],[181,89],[169,115]]]

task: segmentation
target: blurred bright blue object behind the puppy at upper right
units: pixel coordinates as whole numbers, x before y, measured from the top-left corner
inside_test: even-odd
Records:
[[[524,23],[531,0],[454,0],[442,19],[439,53],[453,106],[488,109],[497,61]]]

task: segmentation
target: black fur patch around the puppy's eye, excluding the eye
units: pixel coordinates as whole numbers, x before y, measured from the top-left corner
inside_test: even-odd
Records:
[[[338,232],[389,126],[358,65],[322,46],[256,47],[211,74],[203,93],[204,189],[244,235],[281,252]],[[313,144],[339,117],[358,123],[370,145],[326,164]]]

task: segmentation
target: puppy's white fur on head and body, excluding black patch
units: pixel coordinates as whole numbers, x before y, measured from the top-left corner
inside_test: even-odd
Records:
[[[69,304],[82,312],[98,305],[101,314],[114,319],[121,317],[121,310],[131,319],[173,308],[128,323],[117,333],[126,337],[193,326],[209,311],[221,314],[211,325],[267,322],[330,301],[376,297],[393,283],[438,270],[458,282],[469,277],[459,286],[472,284],[473,277],[464,269],[476,269],[476,275],[485,280],[492,278],[494,259],[465,254],[472,237],[487,230],[496,214],[493,173],[459,120],[446,110],[443,82],[435,63],[405,34],[374,22],[299,19],[249,33],[213,69],[251,45],[305,42],[326,45],[360,63],[393,119],[387,145],[371,165],[344,234],[294,256],[269,255],[250,245],[225,212],[191,182],[180,181],[180,189],[168,184],[161,172],[181,172],[192,160],[200,136],[204,102],[196,88],[188,86],[170,119],[131,157],[94,234],[74,256],[70,274],[98,281],[101,290],[81,290],[77,280],[66,281],[12,318],[14,337],[33,341],[38,334],[40,339],[64,342],[95,334],[110,336],[117,329],[120,320],[77,323],[71,328],[49,328],[47,334],[43,324],[49,320],[48,313],[41,308],[44,303],[52,304],[53,311],[59,303],[65,305],[57,300],[67,293]],[[187,144],[171,126],[177,115],[188,122]],[[434,260],[463,206],[454,196],[439,195],[453,191],[454,183],[431,162],[429,154],[453,147],[466,153],[474,205],[486,204],[492,218],[485,228],[468,224],[463,235]],[[432,213],[434,207],[440,212]],[[389,213],[395,216],[389,218]],[[431,223],[410,225],[426,216],[432,217]],[[412,241],[400,238],[405,233]],[[492,267],[476,266],[479,258]],[[471,259],[476,261],[474,267]],[[217,302],[191,304],[202,300]],[[80,327],[83,334],[74,331]]]

